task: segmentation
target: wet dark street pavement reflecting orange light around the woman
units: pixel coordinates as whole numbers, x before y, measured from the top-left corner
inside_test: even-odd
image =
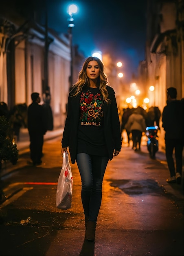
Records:
[[[150,159],[142,141],[135,152],[123,143],[108,163],[95,243],[86,242],[81,181],[73,174],[72,207],[55,207],[62,166],[61,138],[44,142],[43,163],[29,164],[29,150],[16,171],[2,177],[0,255],[179,256],[184,255],[183,184],[168,184],[164,152]]]

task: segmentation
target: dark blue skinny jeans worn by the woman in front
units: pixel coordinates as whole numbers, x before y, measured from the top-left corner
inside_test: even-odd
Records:
[[[109,158],[79,153],[76,160],[81,175],[84,215],[96,222],[101,207],[103,176]]]

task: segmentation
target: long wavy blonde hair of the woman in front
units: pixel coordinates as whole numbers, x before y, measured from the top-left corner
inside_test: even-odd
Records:
[[[104,67],[102,61],[97,57],[90,56],[90,57],[86,58],[85,62],[83,63],[83,67],[82,67],[81,71],[79,72],[78,81],[73,85],[73,88],[76,90],[74,91],[72,96],[77,96],[77,94],[80,93],[83,88],[90,85],[89,78],[86,74],[86,69],[87,69],[88,63],[90,61],[97,61],[98,65],[99,65],[100,74],[99,74],[99,77],[97,80],[97,86],[99,86],[99,89],[103,96],[104,101],[107,102],[107,104],[108,104],[110,102],[110,99],[108,99],[109,94],[106,89],[107,76],[104,73],[105,67]]]

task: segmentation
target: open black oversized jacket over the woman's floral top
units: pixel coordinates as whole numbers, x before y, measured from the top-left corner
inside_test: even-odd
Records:
[[[74,90],[74,89],[73,89]],[[71,96],[74,91],[71,91],[68,97],[68,115],[66,118],[65,128],[62,138],[62,147],[69,147],[72,164],[75,163],[77,155],[77,138],[78,138],[78,125],[80,115],[80,95]],[[118,109],[115,98],[114,90],[107,85],[109,93],[108,99],[111,100],[109,104],[103,104],[103,118],[104,118],[104,136],[105,144],[107,146],[108,156],[111,160],[114,150],[120,151],[121,149],[121,131],[120,122],[118,117]]]

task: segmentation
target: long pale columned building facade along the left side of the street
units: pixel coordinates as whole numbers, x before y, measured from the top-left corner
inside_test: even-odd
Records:
[[[48,88],[45,86],[45,28],[34,22],[18,26],[0,18],[0,101],[11,109],[41,99],[49,88],[54,127],[64,126],[70,77],[70,43],[67,36],[48,31]]]

